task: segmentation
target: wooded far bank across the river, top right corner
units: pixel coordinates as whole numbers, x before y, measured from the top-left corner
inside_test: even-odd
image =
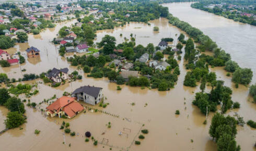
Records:
[[[215,6],[214,8],[208,8],[207,6],[210,4],[220,4],[226,3],[222,7]],[[229,7],[229,4],[237,5],[238,7]],[[249,6],[252,7],[250,8]],[[240,8],[239,6],[248,6],[244,8]],[[256,3],[255,1],[201,1],[199,3],[191,4],[191,7],[201,9],[207,12],[211,12],[215,15],[223,16],[228,19],[232,19],[234,21],[239,21],[242,23],[248,23],[253,26],[256,26],[256,20],[253,15],[256,15]],[[238,12],[239,11],[239,12]],[[252,14],[252,16],[241,15],[241,13],[246,12]]]

